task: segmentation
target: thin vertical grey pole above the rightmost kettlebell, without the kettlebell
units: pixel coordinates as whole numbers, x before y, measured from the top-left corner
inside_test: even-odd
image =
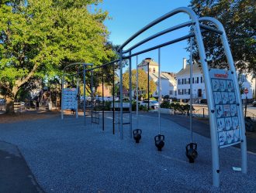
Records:
[[[191,143],[193,142],[193,128],[192,128],[192,73],[193,73],[193,66],[192,66],[192,48],[193,48],[193,39],[190,38],[190,130],[191,130]]]

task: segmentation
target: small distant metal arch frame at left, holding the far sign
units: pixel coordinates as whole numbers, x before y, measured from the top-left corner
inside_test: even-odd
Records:
[[[84,90],[84,119],[85,119],[85,100],[86,100],[85,99],[85,72],[86,72],[85,67],[86,66],[92,66],[93,64],[92,63],[71,63],[71,64],[68,64],[67,66],[64,67],[63,75],[62,75],[62,80],[61,80],[61,119],[62,120],[64,119],[64,112],[63,112],[63,106],[64,106],[64,100],[63,100],[63,96],[64,96],[64,79],[65,79],[65,76],[67,76],[67,74],[65,74],[65,70],[68,67],[75,66],[75,65],[79,65],[78,66],[78,73],[73,73],[73,74],[68,74],[68,75],[69,76],[78,75],[78,74],[80,74],[79,69],[81,67],[83,68],[83,71],[81,73],[83,73],[83,77],[84,77],[84,79],[83,79],[83,83],[84,83],[83,90]],[[78,83],[77,83],[77,87],[78,87]],[[76,109],[76,118],[78,118],[78,108]]]

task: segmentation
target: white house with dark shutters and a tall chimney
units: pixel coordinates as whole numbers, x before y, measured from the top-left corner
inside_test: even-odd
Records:
[[[180,100],[190,99],[190,65],[183,59],[183,68],[176,74],[177,98]],[[195,102],[206,99],[205,83],[202,70],[197,64],[192,65],[192,97]]]

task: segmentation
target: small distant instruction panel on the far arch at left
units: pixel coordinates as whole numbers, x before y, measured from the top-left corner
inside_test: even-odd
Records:
[[[78,92],[75,88],[64,89],[63,109],[76,110],[78,108],[77,94]]]

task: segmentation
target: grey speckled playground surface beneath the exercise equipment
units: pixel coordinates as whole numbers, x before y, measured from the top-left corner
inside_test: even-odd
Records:
[[[240,167],[240,150],[220,149],[220,188],[212,186],[210,140],[194,134],[199,157],[189,164],[185,145],[190,131],[171,120],[161,119],[165,136],[163,151],[154,146],[158,123],[140,115],[142,139],[135,144],[129,125],[118,125],[112,134],[112,114],[106,127],[86,126],[83,117],[71,116],[0,124],[0,141],[16,144],[37,182],[46,192],[256,192],[256,155],[247,154],[248,173]],[[133,117],[133,129],[137,128]]]

